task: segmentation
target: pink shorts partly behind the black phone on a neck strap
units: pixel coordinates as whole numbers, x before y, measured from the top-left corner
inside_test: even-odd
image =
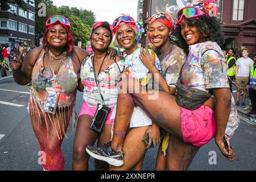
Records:
[[[105,125],[113,125],[113,119],[110,119],[111,115],[112,115],[112,112],[113,112],[113,109],[114,107],[110,107],[111,110],[109,112],[109,114],[107,115],[106,117],[106,120],[105,120]],[[83,115],[83,114],[87,114],[89,115],[90,117],[94,117],[94,114],[96,113],[96,110],[97,110],[97,107],[90,107],[86,104],[86,102],[84,102],[84,104],[82,104],[82,108],[81,108],[81,111],[79,113],[79,117],[80,115]]]

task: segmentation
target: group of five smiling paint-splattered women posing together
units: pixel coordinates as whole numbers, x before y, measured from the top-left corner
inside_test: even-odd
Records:
[[[131,16],[94,23],[92,55],[73,46],[67,18],[51,16],[43,47],[23,61],[21,51],[11,61],[18,84],[32,81],[29,113],[40,151],[46,152],[43,169],[64,168],[61,143],[75,123],[77,89],[84,103],[73,170],[88,169],[89,155],[97,159],[96,170],[141,170],[147,149],[159,144],[156,170],[186,170],[213,137],[222,154],[236,160],[229,139],[239,119],[218,46],[223,35],[216,9],[212,1],[199,1],[181,9],[176,20],[168,13],[153,15],[147,35],[154,51],[138,47]],[[109,49],[113,35],[125,57]],[[109,110],[96,132],[92,121],[102,106]]]

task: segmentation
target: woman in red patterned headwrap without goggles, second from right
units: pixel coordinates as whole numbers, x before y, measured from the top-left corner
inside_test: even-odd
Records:
[[[172,40],[175,29],[175,19],[171,14],[159,13],[152,15],[148,19],[148,38],[155,47],[162,69],[163,76],[159,76],[159,85],[164,92],[171,95],[176,93],[175,84],[179,80],[181,67],[187,59],[187,55],[183,49],[177,47]],[[155,58],[153,56],[142,51],[141,59],[151,73],[156,73],[153,64]],[[164,170],[166,167],[165,157],[168,155],[167,147],[169,138],[169,134],[166,134],[159,146],[158,157],[156,158],[156,170]]]

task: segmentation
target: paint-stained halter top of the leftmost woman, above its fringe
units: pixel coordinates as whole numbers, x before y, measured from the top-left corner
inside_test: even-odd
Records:
[[[47,82],[46,77],[49,77],[52,74],[50,68],[45,68],[43,65],[43,55],[44,50],[40,53],[38,60],[35,63],[35,66],[32,71],[32,94],[38,100],[43,101],[46,98],[46,88],[53,87],[61,90],[59,100],[57,105],[59,107],[69,106],[75,102],[75,95],[77,91],[77,75],[73,71],[73,64],[70,56],[65,56],[66,59],[63,59],[63,64],[59,68],[59,72],[56,76],[56,82],[54,77],[52,81]]]

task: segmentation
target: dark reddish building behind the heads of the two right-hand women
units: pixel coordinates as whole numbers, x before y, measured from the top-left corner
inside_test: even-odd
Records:
[[[142,19],[144,22],[158,11],[171,10],[175,17],[180,3],[191,2],[183,0],[144,0]],[[223,49],[241,46],[256,52],[256,1],[255,0],[216,0],[219,3],[218,17],[224,27],[226,42]],[[144,38],[143,44],[146,43]]]

